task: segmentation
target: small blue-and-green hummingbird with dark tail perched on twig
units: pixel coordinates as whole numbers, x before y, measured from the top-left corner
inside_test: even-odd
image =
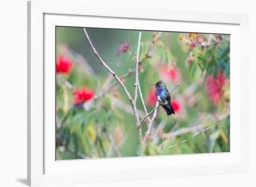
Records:
[[[171,96],[166,88],[166,85],[162,81],[157,83],[147,83],[155,85],[155,97],[161,103],[162,108],[166,111],[167,115],[175,114],[171,105]]]

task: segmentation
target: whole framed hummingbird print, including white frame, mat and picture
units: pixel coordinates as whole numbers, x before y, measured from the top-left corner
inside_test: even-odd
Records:
[[[248,171],[248,16],[28,2],[31,186]]]

